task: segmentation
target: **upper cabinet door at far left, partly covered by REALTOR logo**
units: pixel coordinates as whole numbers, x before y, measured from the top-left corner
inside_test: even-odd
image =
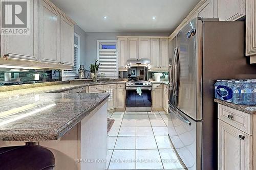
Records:
[[[38,0],[29,1],[29,35],[1,35],[2,54],[38,61]]]

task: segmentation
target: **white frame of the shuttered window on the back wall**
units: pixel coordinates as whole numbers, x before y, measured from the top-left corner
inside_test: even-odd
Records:
[[[115,44],[116,49],[101,49],[102,44]],[[99,60],[100,51],[116,51],[116,72],[113,75],[105,75],[106,77],[118,77],[118,56],[117,56],[117,40],[97,40],[97,60]]]

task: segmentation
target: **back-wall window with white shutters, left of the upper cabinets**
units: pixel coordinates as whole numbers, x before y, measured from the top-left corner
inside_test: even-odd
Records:
[[[104,74],[109,77],[118,76],[116,53],[116,41],[97,41],[97,59],[100,63],[99,74]]]

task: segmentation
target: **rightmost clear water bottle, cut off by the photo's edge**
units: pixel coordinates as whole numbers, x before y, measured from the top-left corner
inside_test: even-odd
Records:
[[[254,87],[250,81],[244,82],[244,104],[254,105],[253,103]]]

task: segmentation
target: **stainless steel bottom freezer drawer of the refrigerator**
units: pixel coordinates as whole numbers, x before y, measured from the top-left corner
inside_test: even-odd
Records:
[[[180,158],[189,170],[201,169],[202,122],[168,104],[168,133]]]

